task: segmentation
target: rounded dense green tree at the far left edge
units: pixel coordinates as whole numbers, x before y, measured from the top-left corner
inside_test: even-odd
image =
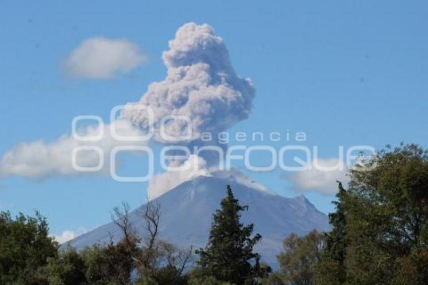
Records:
[[[45,218],[0,212],[0,283],[39,283],[38,270],[57,254]]]

